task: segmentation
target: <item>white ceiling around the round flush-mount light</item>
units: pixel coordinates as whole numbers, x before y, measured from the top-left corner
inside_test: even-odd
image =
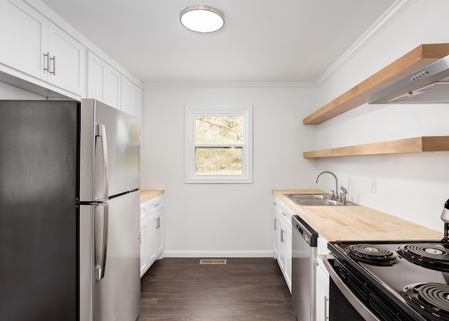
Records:
[[[314,82],[394,0],[42,0],[142,82]],[[186,6],[225,27],[182,27]]]

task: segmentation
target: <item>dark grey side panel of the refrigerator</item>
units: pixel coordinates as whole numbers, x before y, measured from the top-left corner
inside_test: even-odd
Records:
[[[0,100],[0,320],[78,320],[77,113]]]

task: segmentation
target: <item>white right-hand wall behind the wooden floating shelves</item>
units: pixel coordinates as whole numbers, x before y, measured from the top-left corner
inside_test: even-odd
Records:
[[[449,42],[449,1],[418,0],[330,79],[319,85],[319,106],[370,77],[420,44]],[[449,135],[449,104],[362,105],[317,125],[317,149],[417,136]],[[336,157],[316,161],[334,171],[349,199],[443,231],[449,197],[449,152]],[[377,192],[370,192],[370,176]],[[309,185],[313,182],[310,181]],[[333,188],[331,178],[320,188]]]

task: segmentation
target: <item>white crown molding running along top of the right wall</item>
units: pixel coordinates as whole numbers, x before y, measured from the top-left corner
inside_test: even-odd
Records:
[[[361,35],[357,41],[349,47],[349,49],[338,58],[338,60],[324,72],[319,79],[316,79],[315,84],[319,86],[323,81],[330,78],[335,72],[344,67],[349,61],[354,58],[359,51],[370,44],[379,34],[381,34],[394,20],[400,17],[410,6],[413,6],[417,0],[396,0],[385,13],[374,22],[374,24]]]

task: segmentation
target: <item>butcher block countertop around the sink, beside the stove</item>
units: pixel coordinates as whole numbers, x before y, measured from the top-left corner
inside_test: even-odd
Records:
[[[441,240],[441,232],[363,206],[300,206],[283,194],[326,194],[321,190],[273,190],[293,213],[328,242],[363,240]]]

